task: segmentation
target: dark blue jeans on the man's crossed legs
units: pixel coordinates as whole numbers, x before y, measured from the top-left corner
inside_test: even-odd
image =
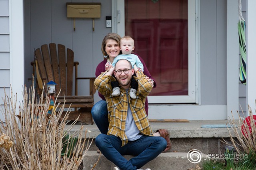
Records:
[[[137,140],[129,141],[122,147],[120,138],[113,135],[100,134],[95,139],[96,146],[102,154],[121,170],[136,170],[150,160],[156,158],[165,148],[167,142],[160,136],[143,135]],[[122,155],[136,157],[126,160]]]

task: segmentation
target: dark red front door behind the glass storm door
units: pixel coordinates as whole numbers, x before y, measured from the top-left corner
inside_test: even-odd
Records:
[[[125,35],[157,82],[150,95],[188,95],[188,0],[125,0]]]

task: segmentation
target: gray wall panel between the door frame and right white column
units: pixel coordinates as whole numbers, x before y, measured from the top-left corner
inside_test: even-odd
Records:
[[[226,0],[200,1],[201,104],[226,105]]]

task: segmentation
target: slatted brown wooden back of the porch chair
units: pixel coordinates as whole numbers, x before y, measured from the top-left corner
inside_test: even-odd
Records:
[[[50,52],[49,52],[50,48]],[[43,83],[54,81],[57,83],[56,92],[60,91],[60,95],[71,96],[73,85],[73,69],[74,69],[74,52],[67,49],[64,45],[58,44],[58,53],[55,43],[41,46],[35,51],[38,61],[38,68]]]

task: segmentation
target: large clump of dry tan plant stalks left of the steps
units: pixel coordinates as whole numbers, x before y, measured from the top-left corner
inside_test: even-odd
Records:
[[[54,108],[59,109],[53,109],[49,115],[47,112],[50,97],[44,97],[42,93],[39,101],[35,102],[35,94],[34,87],[29,89],[29,93],[26,87],[24,88],[19,115],[16,115],[16,95],[11,91],[11,97],[4,96],[4,105],[1,107],[4,121],[0,120],[0,136],[5,139],[1,140],[5,145],[0,145],[0,168],[5,166],[14,170],[78,169],[92,144],[92,140],[86,144],[87,130],[83,134],[81,126],[79,131],[70,134],[70,138],[78,136],[78,142],[73,149],[75,152],[69,156],[61,155],[62,139],[70,133],[78,119],[65,128],[70,112],[61,119],[64,105],[60,107],[54,103]]]

